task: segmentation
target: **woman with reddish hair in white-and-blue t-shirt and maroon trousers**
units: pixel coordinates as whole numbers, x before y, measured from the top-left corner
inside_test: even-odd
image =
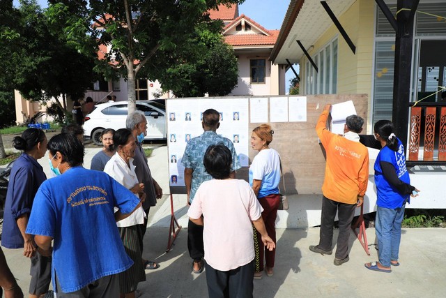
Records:
[[[262,218],[266,231],[272,241],[276,241],[275,221],[279,207],[280,156],[274,149],[268,147],[272,141],[271,126],[262,124],[252,131],[251,147],[259,151],[249,167],[249,184],[263,207]],[[260,241],[259,233],[254,233],[254,250],[256,262],[254,264],[254,278],[261,279],[263,271],[263,255],[265,256],[265,271],[268,276],[274,273],[275,249],[265,250]]]

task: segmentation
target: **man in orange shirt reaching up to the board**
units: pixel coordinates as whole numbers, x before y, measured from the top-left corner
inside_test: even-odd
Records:
[[[319,244],[309,250],[321,255],[332,254],[334,217],[338,212],[339,235],[334,265],[348,262],[348,237],[355,208],[364,202],[369,179],[369,151],[360,143],[364,119],[346,118],[344,135],[328,131],[326,126],[331,105],[325,105],[316,124],[316,132],[325,149],[325,177],[322,186],[322,215]]]

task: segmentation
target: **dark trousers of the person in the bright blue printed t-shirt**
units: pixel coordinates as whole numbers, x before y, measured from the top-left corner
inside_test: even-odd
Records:
[[[84,288],[76,292],[64,293],[61,290],[59,278],[56,276],[56,295],[57,298],[118,298],[119,280],[116,274],[107,275],[89,283]]]

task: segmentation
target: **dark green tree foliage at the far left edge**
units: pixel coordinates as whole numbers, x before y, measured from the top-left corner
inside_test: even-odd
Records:
[[[36,0],[21,0],[10,29],[9,47],[0,50],[8,55],[9,89],[17,89],[24,98],[45,101],[58,96],[77,99],[84,96],[97,75],[93,71],[96,53],[80,53],[68,43],[63,31],[54,30]],[[14,33],[14,34],[13,34]]]

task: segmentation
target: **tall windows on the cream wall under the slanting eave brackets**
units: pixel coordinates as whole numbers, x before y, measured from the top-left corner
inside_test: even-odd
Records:
[[[318,71],[307,61],[306,93],[336,94],[337,92],[337,39],[332,40],[312,57]]]

